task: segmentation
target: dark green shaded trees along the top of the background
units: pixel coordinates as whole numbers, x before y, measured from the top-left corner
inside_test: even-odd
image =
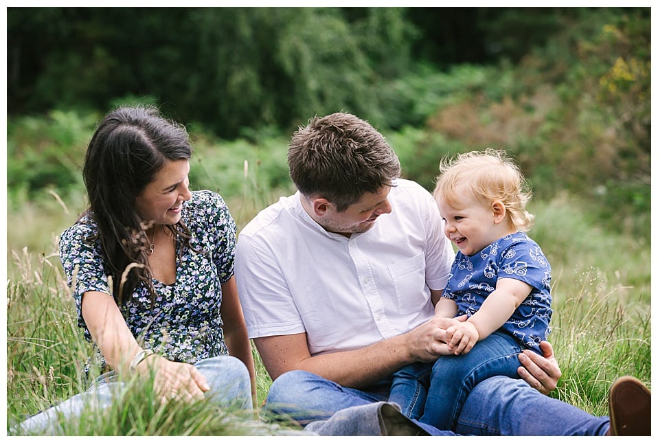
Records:
[[[516,63],[569,8],[10,8],[8,109],[126,95],[221,137],[348,108],[376,124],[419,63]],[[510,35],[510,30],[513,30]],[[398,112],[403,113],[404,110]]]

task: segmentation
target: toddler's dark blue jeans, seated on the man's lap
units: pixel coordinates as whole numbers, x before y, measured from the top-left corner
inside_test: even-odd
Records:
[[[389,401],[400,405],[409,418],[438,429],[453,429],[464,400],[477,383],[495,375],[519,378],[517,355],[522,350],[509,334],[493,332],[467,354],[402,367],[393,374]]]

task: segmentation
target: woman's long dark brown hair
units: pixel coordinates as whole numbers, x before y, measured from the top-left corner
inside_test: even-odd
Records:
[[[161,117],[154,107],[116,109],[104,117],[91,137],[82,170],[89,196],[87,214],[98,225],[105,271],[112,276],[117,304],[140,282],[151,299],[155,297],[144,248],[150,220],[137,215],[135,198],[166,161],[190,159],[191,155],[187,130]],[[168,228],[190,246],[190,232],[182,220]],[[122,274],[131,264],[137,266],[132,265],[122,282]]]

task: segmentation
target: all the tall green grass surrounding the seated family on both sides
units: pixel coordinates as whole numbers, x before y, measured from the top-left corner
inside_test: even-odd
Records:
[[[254,192],[249,186],[247,194]],[[73,299],[56,256],[56,235],[75,220],[83,205],[50,198],[51,203],[38,207],[14,205],[16,209],[8,214],[8,226],[17,228],[10,229],[8,236],[8,425],[88,386],[82,365],[91,345],[76,324]],[[554,269],[555,312],[549,340],[563,377],[552,396],[605,415],[607,389],[617,376],[631,374],[651,384],[650,245],[600,229],[569,196],[535,202],[531,209],[537,221],[530,235]],[[234,212],[231,208],[238,226],[256,210]],[[36,232],[41,235],[32,234]],[[271,379],[255,350],[254,357],[260,405]],[[219,411],[207,402],[161,407],[148,386],[139,385],[128,389],[122,402],[109,411],[63,422],[59,432],[273,435],[285,431],[280,424],[253,420],[237,411]]]

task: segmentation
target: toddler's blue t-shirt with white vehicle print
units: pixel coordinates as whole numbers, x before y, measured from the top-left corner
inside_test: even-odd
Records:
[[[521,232],[496,240],[479,253],[457,251],[443,297],[457,303],[457,316],[475,314],[499,278],[514,278],[532,291],[500,330],[541,354],[539,342],[550,333],[551,266],[539,245]]]

